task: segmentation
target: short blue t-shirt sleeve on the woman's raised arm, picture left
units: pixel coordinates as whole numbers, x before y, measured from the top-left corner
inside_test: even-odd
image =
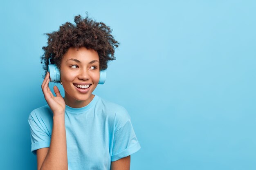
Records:
[[[36,150],[50,146],[51,137],[45,130],[43,130],[43,126],[38,119],[33,119],[31,114],[28,119],[30,126],[31,152],[36,155]]]

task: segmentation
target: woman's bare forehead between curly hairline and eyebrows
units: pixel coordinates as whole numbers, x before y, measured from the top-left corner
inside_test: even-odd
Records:
[[[63,55],[62,62],[67,62],[67,60],[74,58],[81,62],[90,62],[92,60],[99,60],[98,52],[94,49],[87,49],[85,47],[70,47],[65,55]],[[72,60],[69,60],[72,61]]]

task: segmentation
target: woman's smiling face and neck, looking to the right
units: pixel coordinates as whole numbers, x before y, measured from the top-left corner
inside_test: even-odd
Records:
[[[61,82],[65,104],[73,108],[88,105],[99,83],[99,55],[93,49],[70,47],[61,60]]]

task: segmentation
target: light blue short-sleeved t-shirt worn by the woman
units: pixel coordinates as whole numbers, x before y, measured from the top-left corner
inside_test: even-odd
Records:
[[[48,105],[29,115],[31,152],[50,146],[53,113]],[[95,95],[82,108],[65,108],[67,161],[69,170],[110,170],[117,161],[141,146],[126,109]]]

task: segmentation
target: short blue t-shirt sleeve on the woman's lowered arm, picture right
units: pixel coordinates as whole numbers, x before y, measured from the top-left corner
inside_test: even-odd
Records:
[[[137,140],[130,119],[123,127],[118,129],[114,134],[111,161],[127,157],[137,152],[141,146]]]

